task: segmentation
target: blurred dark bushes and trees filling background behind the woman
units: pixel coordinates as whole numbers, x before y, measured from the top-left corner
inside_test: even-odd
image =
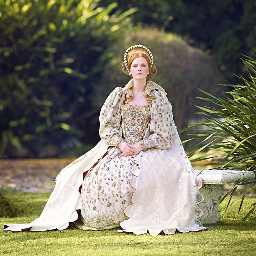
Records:
[[[251,0],[0,0],[0,156],[94,146],[104,100],[129,80],[121,64],[133,44],[153,52],[178,131],[202,120],[195,87],[221,96],[218,84],[246,74],[240,57],[252,56],[255,21]]]

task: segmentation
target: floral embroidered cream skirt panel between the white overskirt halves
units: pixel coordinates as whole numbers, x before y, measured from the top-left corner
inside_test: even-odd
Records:
[[[120,227],[128,219],[123,210],[131,205],[134,189],[130,170],[137,166],[132,156],[120,157],[121,152],[111,148],[84,178],[81,190],[81,211],[74,223],[84,230],[102,230]]]

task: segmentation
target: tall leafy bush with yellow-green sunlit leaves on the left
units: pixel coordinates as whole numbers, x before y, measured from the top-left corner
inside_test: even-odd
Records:
[[[0,0],[0,155],[58,156],[90,141],[88,95],[135,11],[97,2]]]

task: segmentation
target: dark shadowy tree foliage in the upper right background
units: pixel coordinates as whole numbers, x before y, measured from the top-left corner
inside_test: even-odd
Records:
[[[102,0],[102,4],[111,3]],[[240,54],[251,54],[256,41],[256,2],[251,0],[118,0],[118,8],[137,7],[135,24],[155,25],[182,35],[189,44],[214,54],[225,79],[246,70]]]

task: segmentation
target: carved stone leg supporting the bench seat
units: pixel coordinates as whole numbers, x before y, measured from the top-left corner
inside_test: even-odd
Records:
[[[218,207],[221,200],[222,184],[203,184],[199,192],[205,198],[198,204],[204,215],[198,218],[202,224],[217,223],[220,220]]]

